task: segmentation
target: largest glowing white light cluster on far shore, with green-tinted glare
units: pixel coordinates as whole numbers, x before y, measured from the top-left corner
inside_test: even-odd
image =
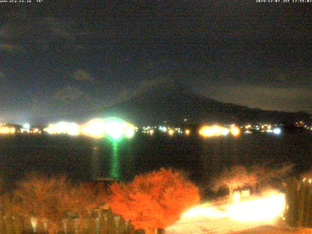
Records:
[[[49,124],[44,129],[49,134],[84,135],[93,138],[108,136],[112,139],[118,139],[123,136],[131,138],[134,136],[135,130],[136,128],[132,124],[115,118],[96,118],[81,125],[70,122],[59,122]]]

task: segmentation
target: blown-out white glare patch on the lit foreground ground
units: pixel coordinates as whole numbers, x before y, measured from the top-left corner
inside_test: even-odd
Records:
[[[245,201],[216,206],[196,206],[182,215],[182,218],[220,219],[229,217],[237,221],[270,221],[283,214],[285,195],[272,192],[262,197],[250,197]],[[184,220],[185,221],[185,220]]]

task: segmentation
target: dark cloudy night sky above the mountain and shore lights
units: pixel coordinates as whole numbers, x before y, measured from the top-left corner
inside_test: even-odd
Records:
[[[0,2],[2,122],[83,121],[171,79],[312,113],[312,3],[35,1]]]

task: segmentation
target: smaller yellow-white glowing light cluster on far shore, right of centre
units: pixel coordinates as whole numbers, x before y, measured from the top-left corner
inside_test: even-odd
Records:
[[[238,136],[240,134],[240,130],[234,125],[231,125],[230,128],[222,127],[219,125],[203,126],[199,130],[199,134],[202,137],[226,136],[229,133],[231,133],[233,136]]]

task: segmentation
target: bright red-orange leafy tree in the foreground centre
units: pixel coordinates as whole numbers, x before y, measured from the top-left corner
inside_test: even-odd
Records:
[[[200,200],[198,188],[179,172],[161,168],[136,176],[131,183],[114,183],[108,205],[131,220],[136,229],[155,234],[174,224],[181,213]]]

